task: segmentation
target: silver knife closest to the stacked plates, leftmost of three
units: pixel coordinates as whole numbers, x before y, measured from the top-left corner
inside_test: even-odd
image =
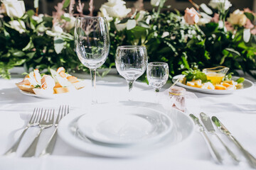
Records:
[[[198,120],[198,118],[196,118],[195,115],[190,114],[189,116],[193,119],[195,124],[198,125],[198,130],[199,130],[199,132],[201,132],[203,139],[206,140],[206,144],[208,146],[208,149],[209,149],[210,154],[213,157],[214,161],[217,164],[222,164],[223,159],[220,157],[220,154],[218,153],[217,149],[215,149],[215,147],[213,146],[213,143],[210,142],[208,135],[206,135],[206,132],[203,129],[203,125],[201,125],[201,123],[199,123],[199,120]]]

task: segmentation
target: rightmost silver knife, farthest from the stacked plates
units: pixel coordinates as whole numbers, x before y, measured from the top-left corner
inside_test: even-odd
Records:
[[[236,140],[235,137],[233,137],[233,135],[231,135],[231,133],[228,131],[228,129],[225,128],[225,126],[220,122],[220,120],[218,120],[218,118],[213,116],[212,120],[213,120],[213,123],[220,130],[220,132],[223,132],[232,142],[235,143],[235,145],[238,147],[238,149],[240,149],[242,154],[245,156],[245,158],[249,162],[250,166],[252,166],[252,168],[256,168],[256,159],[255,159],[255,157],[253,157],[252,154],[247,152],[247,150],[244,147],[242,147],[242,145],[240,145],[240,142],[238,142],[238,140]]]

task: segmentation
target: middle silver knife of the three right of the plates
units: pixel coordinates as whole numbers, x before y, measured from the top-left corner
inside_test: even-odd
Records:
[[[228,146],[225,145],[225,143],[223,142],[223,140],[220,139],[220,137],[217,135],[217,133],[215,133],[215,129],[213,127],[213,123],[210,120],[210,117],[208,115],[206,115],[206,113],[201,112],[200,118],[201,118],[203,125],[206,127],[206,130],[208,130],[208,132],[212,133],[213,135],[215,135],[218,138],[218,140],[220,140],[221,144],[225,147],[225,149],[227,150],[230,157],[232,157],[232,159],[234,160],[235,164],[238,164],[240,162],[240,160],[228,148]]]

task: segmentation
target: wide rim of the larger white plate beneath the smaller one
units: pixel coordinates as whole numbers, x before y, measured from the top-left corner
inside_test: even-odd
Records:
[[[143,103],[149,103],[149,102],[143,102]],[[156,103],[150,103],[153,105],[158,105]],[[161,106],[161,109],[163,107]],[[164,109],[166,110],[166,109]],[[188,115],[186,113],[183,113],[181,111],[178,111],[175,108],[171,108],[171,111],[176,111],[178,114],[181,115],[181,117],[186,117],[186,120],[188,120],[188,122],[190,123],[191,127],[189,129],[189,133],[186,136],[186,138],[182,139],[181,141],[176,141],[176,142],[172,142],[170,143],[170,138],[172,139],[172,136],[170,135],[169,138],[166,137],[165,139],[161,140],[161,146],[159,146],[159,144],[157,143],[156,145],[154,145],[154,147],[146,147],[146,149],[144,150],[140,150],[140,149],[122,149],[120,150],[119,147],[117,148],[112,148],[110,145],[97,145],[95,143],[92,142],[86,142],[83,140],[80,140],[80,138],[77,135],[73,135],[70,130],[70,125],[76,120],[78,119],[81,115],[85,114],[85,113],[81,113],[80,112],[75,112],[74,113],[69,113],[68,115],[66,115],[59,124],[59,132],[58,135],[60,136],[60,138],[62,138],[62,140],[67,143],[68,145],[70,145],[70,147],[74,147],[76,149],[79,149],[82,152],[86,152],[87,154],[94,154],[94,155],[98,155],[98,156],[102,156],[102,157],[138,157],[138,156],[142,156],[146,153],[149,152],[154,152],[156,150],[160,150],[160,149],[166,149],[168,147],[173,147],[175,145],[179,145],[182,142],[185,142],[186,140],[189,140],[192,136],[193,133],[195,132],[194,128],[195,125],[193,123],[193,121],[191,120],[191,118],[188,117]],[[76,120],[77,121],[77,120]],[[65,132],[67,132],[67,134],[65,134]],[[167,140],[167,138],[169,140]],[[75,140],[75,141],[73,141]],[[156,147],[156,148],[155,148]],[[114,149],[114,150],[113,150]],[[122,152],[120,152],[122,151]]]

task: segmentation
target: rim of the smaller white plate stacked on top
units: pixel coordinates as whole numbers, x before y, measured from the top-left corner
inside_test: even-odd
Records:
[[[122,106],[118,106],[118,107],[122,107]],[[133,108],[133,106],[126,106],[128,108]],[[158,140],[161,140],[162,137],[164,137],[165,135],[167,135],[169,132],[171,132],[172,128],[173,128],[173,125],[174,123],[172,122],[171,118],[169,118],[168,115],[162,113],[161,111],[157,111],[157,110],[154,110],[154,109],[151,109],[151,108],[145,108],[145,107],[141,107],[141,106],[138,106],[136,108],[139,108],[139,109],[146,109],[146,110],[151,110],[153,111],[154,113],[157,113],[157,115],[164,115],[165,118],[168,119],[169,121],[169,127],[166,128],[166,130],[164,130],[164,132],[161,132],[159,135],[156,135],[154,137],[150,137],[148,140],[138,140],[138,141],[130,141],[130,142],[127,142],[127,141],[119,141],[119,142],[114,142],[113,140],[102,140],[102,139],[99,139],[97,137],[92,137],[92,135],[88,135],[87,133],[83,132],[85,136],[87,136],[88,138],[90,138],[90,140],[94,140],[96,142],[101,142],[101,143],[106,143],[106,144],[110,144],[110,145],[139,145],[141,144],[142,142],[145,144],[145,143],[151,143],[151,142],[156,142]],[[120,109],[120,108],[119,108]],[[97,115],[101,115],[102,113],[96,113]],[[114,113],[116,114],[116,113]],[[127,113],[121,113],[121,114],[127,114]],[[145,113],[144,113],[145,114]],[[89,116],[89,115],[93,115],[93,113],[88,113],[88,114],[85,114],[85,115],[82,115],[79,119],[78,119],[78,128],[80,128],[80,124],[82,123],[79,123],[81,121],[82,118],[86,117],[86,116]],[[111,115],[113,115],[111,113]],[[82,132],[82,130],[80,130]]]

